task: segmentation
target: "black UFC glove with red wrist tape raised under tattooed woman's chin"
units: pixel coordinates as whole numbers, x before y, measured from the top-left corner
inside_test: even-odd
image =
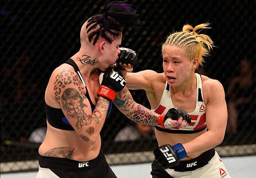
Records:
[[[97,94],[113,101],[115,99],[115,93],[120,92],[124,88],[125,83],[126,81],[122,77],[122,74],[109,67],[104,72]]]

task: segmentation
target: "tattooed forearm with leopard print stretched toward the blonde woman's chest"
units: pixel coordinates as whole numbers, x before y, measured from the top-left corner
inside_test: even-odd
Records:
[[[135,103],[131,93],[126,87],[117,94],[113,103],[122,111],[122,113],[135,122],[146,125],[158,125],[158,115],[148,108]]]

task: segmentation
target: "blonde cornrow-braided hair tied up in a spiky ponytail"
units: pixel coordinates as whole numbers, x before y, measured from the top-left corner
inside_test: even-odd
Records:
[[[193,28],[191,25],[184,25],[182,32],[170,34],[166,42],[162,45],[162,54],[166,45],[180,46],[183,48],[189,60],[198,58],[198,66],[204,62],[203,57],[208,56],[214,44],[211,38],[204,34],[198,34],[198,29],[210,28],[209,23],[197,25]],[[197,68],[198,68],[197,66]]]

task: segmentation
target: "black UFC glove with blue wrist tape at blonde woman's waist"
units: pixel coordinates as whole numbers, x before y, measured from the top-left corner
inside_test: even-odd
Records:
[[[186,150],[177,143],[176,145],[163,145],[154,150],[155,160],[164,169],[168,169],[179,164],[179,160],[187,157]]]

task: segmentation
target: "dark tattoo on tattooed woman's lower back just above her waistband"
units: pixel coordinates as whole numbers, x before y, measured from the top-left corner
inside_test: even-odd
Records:
[[[53,148],[46,152],[44,156],[49,156],[49,157],[58,157],[58,158],[66,158],[73,160],[73,150],[70,147],[58,147],[58,148]]]

